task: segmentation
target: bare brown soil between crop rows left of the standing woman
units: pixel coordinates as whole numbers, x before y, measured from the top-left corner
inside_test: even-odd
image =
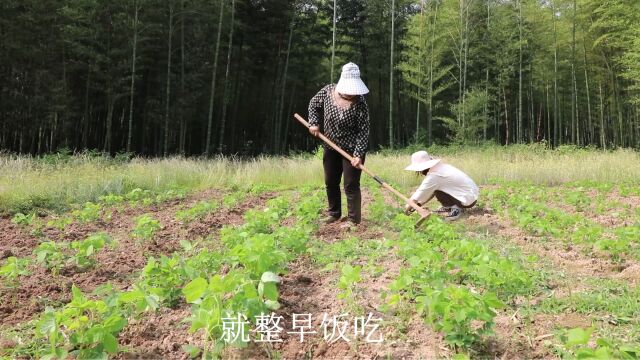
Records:
[[[20,278],[17,289],[3,291],[0,294],[0,320],[3,325],[14,325],[27,321],[44,310],[46,306],[59,306],[71,298],[71,286],[75,284],[88,293],[98,286],[111,283],[116,289],[124,289],[132,283],[137,272],[144,267],[150,256],[170,255],[181,248],[180,240],[195,240],[212,234],[221,226],[237,225],[243,222],[242,214],[248,208],[262,206],[273,193],[249,197],[229,211],[218,211],[201,220],[182,224],[175,220],[175,213],[184,207],[190,207],[202,200],[220,199],[222,192],[207,190],[193,194],[185,199],[171,200],[147,208],[127,207],[114,209],[108,221],[90,224],[74,223],[64,232],[54,228],[43,230],[47,239],[73,241],[84,239],[95,232],[107,232],[117,242],[114,248],[101,250],[97,264],[88,271],[79,271],[70,266],[54,276],[39,264],[30,266],[31,275]],[[162,228],[154,239],[142,242],[130,236],[135,218],[149,213],[158,219]],[[5,221],[5,219],[1,219]],[[44,223],[46,223],[45,219]],[[4,224],[4,223],[3,223]],[[28,234],[28,229],[8,223],[2,233],[3,255],[29,256],[43,239]],[[18,306],[19,304],[19,306]]]

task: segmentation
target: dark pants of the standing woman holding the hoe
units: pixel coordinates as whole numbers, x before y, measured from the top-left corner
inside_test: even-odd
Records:
[[[364,156],[361,159],[364,164]],[[322,165],[324,166],[324,183],[327,186],[327,199],[329,200],[329,215],[336,218],[342,216],[340,179],[344,174],[344,193],[347,196],[349,219],[356,224],[360,223],[362,206],[360,175],[362,170],[351,166],[349,160],[332,149],[324,150]]]

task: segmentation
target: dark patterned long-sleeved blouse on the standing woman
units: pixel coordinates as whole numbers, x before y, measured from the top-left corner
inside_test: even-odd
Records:
[[[348,109],[334,100],[334,84],[322,88],[309,102],[309,124],[354,157],[362,157],[369,146],[369,107],[357,96]],[[327,145],[325,145],[325,150]]]

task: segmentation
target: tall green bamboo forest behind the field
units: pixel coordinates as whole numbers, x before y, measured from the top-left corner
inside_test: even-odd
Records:
[[[308,150],[349,61],[374,150],[640,147],[637,0],[3,0],[0,149]]]

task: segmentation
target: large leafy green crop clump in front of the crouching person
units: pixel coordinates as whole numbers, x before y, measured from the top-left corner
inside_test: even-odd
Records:
[[[499,300],[528,294],[535,276],[522,264],[482,244],[461,239],[449,224],[430,217],[416,231],[411,217],[399,214],[398,253],[407,267],[383,294],[385,310],[415,301],[418,311],[447,343],[467,349],[491,334]],[[467,285],[467,286],[463,286]]]

